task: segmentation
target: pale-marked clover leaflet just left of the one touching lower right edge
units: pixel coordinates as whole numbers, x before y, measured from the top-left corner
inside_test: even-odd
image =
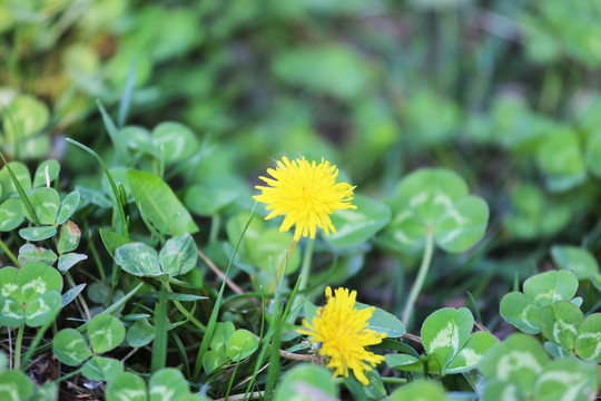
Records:
[[[574,349],[578,326],[583,319],[580,309],[569,301],[544,306],[539,317],[542,334],[566,350]]]

